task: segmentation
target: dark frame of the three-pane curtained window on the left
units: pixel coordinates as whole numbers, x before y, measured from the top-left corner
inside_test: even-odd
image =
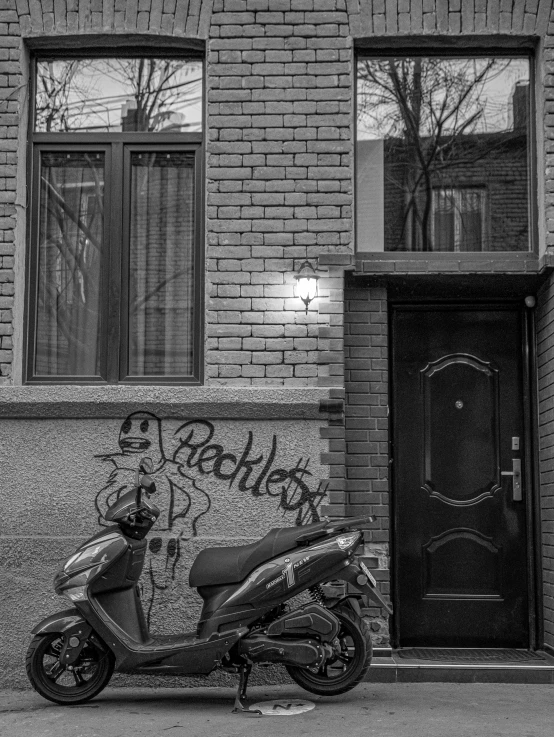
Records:
[[[204,130],[194,133],[148,133],[143,131],[127,131],[121,133],[90,132],[35,132],[36,73],[37,61],[67,58],[182,58],[202,62],[202,110],[205,120],[205,60],[198,53],[179,53],[176,49],[168,49],[158,54],[151,50],[115,48],[89,53],[35,53],[31,57],[29,136],[27,147],[27,248],[26,248],[26,299],[24,307],[24,356],[23,383],[41,385],[189,385],[199,386],[204,380],[204,162],[205,140]],[[204,125],[203,125],[204,127]],[[192,288],[193,315],[191,319],[192,336],[192,372],[190,375],[153,375],[129,376],[128,366],[128,291],[129,279],[124,268],[128,263],[126,254],[129,250],[129,227],[126,218],[129,216],[130,182],[124,181],[126,152],[144,151],[185,151],[194,156],[194,273]],[[38,262],[39,262],[39,226],[40,226],[40,155],[43,151],[104,151],[105,152],[105,184],[104,184],[104,249],[105,258],[102,265],[102,284],[100,299],[103,308],[100,313],[100,346],[99,376],[84,375],[36,375],[34,372],[36,358],[36,323]],[[114,202],[122,202],[121,211],[113,207]],[[123,240],[127,236],[126,241]],[[114,347],[117,350],[114,350]]]

